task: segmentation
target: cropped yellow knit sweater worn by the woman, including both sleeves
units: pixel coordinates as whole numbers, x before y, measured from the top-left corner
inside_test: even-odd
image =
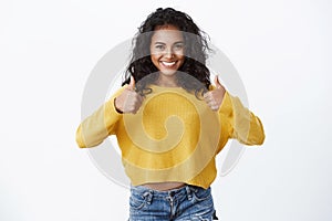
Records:
[[[133,186],[180,181],[208,188],[217,170],[215,157],[229,138],[246,145],[264,140],[260,119],[226,92],[218,112],[181,87],[151,85],[136,114],[120,114],[114,98],[85,118],[76,130],[81,148],[115,135]]]

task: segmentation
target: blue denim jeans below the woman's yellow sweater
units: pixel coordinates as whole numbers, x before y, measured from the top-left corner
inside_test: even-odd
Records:
[[[131,188],[129,221],[212,221],[210,187],[184,186],[167,191]]]

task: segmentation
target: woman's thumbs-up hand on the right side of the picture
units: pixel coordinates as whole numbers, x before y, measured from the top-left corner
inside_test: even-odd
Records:
[[[218,110],[222,103],[226,90],[220,84],[218,76],[215,77],[215,85],[216,85],[215,90],[204,94],[204,99],[212,110]]]

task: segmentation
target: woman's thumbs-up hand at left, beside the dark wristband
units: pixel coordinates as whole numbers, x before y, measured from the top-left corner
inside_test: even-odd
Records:
[[[125,114],[136,114],[142,103],[143,96],[135,92],[135,80],[131,76],[129,85],[115,98],[115,108]]]

